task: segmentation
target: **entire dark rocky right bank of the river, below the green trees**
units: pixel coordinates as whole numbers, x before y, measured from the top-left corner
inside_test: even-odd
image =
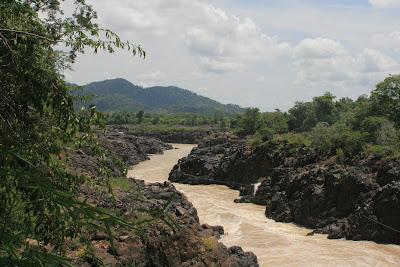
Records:
[[[329,238],[400,244],[398,161],[338,159],[283,142],[250,149],[241,140],[221,138],[200,144],[169,179],[239,189],[238,202],[265,205],[267,217]]]

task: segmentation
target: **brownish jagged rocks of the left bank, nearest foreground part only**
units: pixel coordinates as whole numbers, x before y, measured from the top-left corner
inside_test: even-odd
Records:
[[[187,198],[168,182],[145,185],[143,181],[131,179],[134,190],[117,190],[118,200],[112,202],[91,189],[86,189],[91,204],[117,210],[126,219],[138,220],[147,213],[143,211],[166,210],[173,226],[162,220],[142,226],[140,232],[117,230],[114,240],[115,251],[104,234],[92,234],[89,239],[95,248],[93,256],[111,266],[258,266],[256,256],[244,252],[240,247],[226,248],[217,238],[222,227],[200,225],[197,211]],[[138,195],[140,196],[138,198]],[[148,217],[145,217],[148,218]],[[87,264],[85,257],[70,254],[80,265]]]

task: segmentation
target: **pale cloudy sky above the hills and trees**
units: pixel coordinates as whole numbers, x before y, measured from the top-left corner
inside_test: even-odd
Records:
[[[223,103],[287,109],[355,98],[400,73],[400,0],[92,0],[99,23],[141,44],[87,53],[67,80],[176,85]]]

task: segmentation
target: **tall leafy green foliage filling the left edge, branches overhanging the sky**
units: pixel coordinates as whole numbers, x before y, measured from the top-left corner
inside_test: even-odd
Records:
[[[67,147],[90,149],[93,108],[75,112],[61,74],[86,48],[144,55],[96,23],[84,0],[2,0],[0,3],[0,266],[65,266],[65,241],[85,229],[123,222],[82,202],[85,177],[67,172]],[[67,47],[61,53],[54,48]]]

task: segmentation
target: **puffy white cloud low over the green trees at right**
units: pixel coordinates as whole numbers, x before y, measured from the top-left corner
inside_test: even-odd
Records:
[[[400,71],[395,60],[379,51],[365,48],[354,53],[340,42],[325,38],[301,41],[294,49],[292,68],[296,75],[294,86],[314,87],[317,91],[333,89],[340,94],[349,94],[346,90]]]

